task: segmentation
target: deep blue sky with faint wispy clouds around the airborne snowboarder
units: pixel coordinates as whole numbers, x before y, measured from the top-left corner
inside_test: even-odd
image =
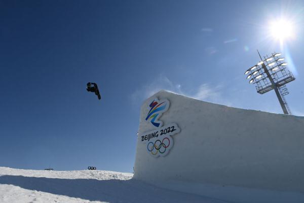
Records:
[[[281,16],[283,50],[268,30]],[[282,113],[244,76],[256,49],[287,57],[303,116],[303,22],[303,1],[0,1],[0,166],[133,172],[140,106],[160,89]]]

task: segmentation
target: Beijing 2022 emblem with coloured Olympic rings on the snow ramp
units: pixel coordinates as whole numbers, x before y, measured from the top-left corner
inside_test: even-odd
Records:
[[[142,143],[146,144],[147,152],[154,156],[166,156],[170,149],[173,147],[173,136],[180,132],[176,123],[171,123],[163,126],[163,122],[160,121],[160,117],[165,113],[170,106],[168,99],[158,100],[157,98],[149,103],[149,111],[145,118],[157,129],[141,133],[139,138]]]

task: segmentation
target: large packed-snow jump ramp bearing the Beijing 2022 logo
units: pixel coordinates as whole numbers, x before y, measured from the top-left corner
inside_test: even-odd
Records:
[[[162,90],[141,107],[134,179],[236,202],[304,202],[304,117]]]

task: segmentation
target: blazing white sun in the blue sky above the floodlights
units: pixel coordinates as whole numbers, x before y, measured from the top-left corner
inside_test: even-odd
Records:
[[[294,37],[294,26],[291,21],[281,18],[270,22],[270,32],[273,38],[283,41]]]

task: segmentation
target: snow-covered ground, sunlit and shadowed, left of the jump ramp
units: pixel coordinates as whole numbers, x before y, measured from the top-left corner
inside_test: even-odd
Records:
[[[158,188],[110,171],[37,171],[0,167],[1,203],[225,202]]]

